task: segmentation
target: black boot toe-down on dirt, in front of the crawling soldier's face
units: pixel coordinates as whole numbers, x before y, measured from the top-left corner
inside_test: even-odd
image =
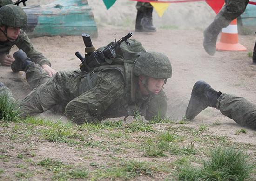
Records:
[[[194,119],[202,110],[208,106],[216,108],[217,99],[222,93],[215,91],[209,84],[199,80],[195,83],[191,98],[186,110],[186,118]]]

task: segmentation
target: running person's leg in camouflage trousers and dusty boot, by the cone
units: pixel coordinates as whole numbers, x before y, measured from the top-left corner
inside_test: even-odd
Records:
[[[225,0],[225,3],[214,21],[203,33],[203,47],[209,55],[214,55],[216,52],[216,42],[222,28],[227,27],[232,20],[236,19],[245,11],[249,0]]]

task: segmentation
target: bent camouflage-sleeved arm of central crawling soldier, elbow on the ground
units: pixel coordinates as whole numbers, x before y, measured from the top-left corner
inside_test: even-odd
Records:
[[[119,71],[102,72],[93,89],[81,94],[66,106],[66,115],[76,124],[100,123],[100,115],[123,96],[124,79]]]

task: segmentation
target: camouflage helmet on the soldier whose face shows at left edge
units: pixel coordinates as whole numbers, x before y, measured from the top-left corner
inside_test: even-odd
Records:
[[[8,4],[0,8],[0,26],[25,28],[27,15],[20,6]]]

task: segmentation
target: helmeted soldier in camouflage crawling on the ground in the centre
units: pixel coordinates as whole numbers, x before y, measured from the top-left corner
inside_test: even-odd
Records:
[[[37,72],[39,76],[40,66],[24,58],[24,52],[20,54],[15,55],[19,69],[26,73]],[[87,73],[80,69],[57,72],[21,101],[20,110],[25,115],[37,115],[61,104],[66,107],[65,116],[76,124],[100,123],[106,118],[132,116],[134,113],[145,116],[147,120],[164,118],[167,101],[162,87],[172,76],[170,61],[164,54],[143,52],[135,61],[129,83],[125,82],[124,65],[107,66],[102,71],[97,71],[99,67],[94,68],[89,76],[92,88]],[[125,93],[127,87],[130,90]]]

